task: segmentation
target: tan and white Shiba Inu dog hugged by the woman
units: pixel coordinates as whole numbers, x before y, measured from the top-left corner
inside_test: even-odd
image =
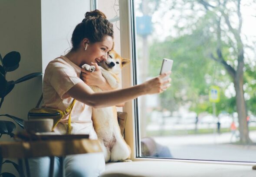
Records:
[[[129,59],[122,58],[115,50],[108,54],[106,61],[98,63],[102,76],[113,89],[118,89],[120,81],[118,74],[121,69],[130,63]],[[85,68],[85,66],[82,66]],[[96,86],[90,86],[94,92],[102,92]],[[98,139],[102,145],[105,162],[124,161],[130,158],[131,149],[126,144],[118,125],[116,107],[92,108],[92,121]]]

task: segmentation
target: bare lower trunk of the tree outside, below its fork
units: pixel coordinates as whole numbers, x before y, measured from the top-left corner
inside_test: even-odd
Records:
[[[236,73],[238,75],[238,73]],[[242,74],[243,75],[243,74]],[[239,79],[242,78],[242,79]],[[236,91],[236,110],[238,114],[240,142],[242,144],[248,144],[251,142],[249,138],[249,129],[246,120],[246,103],[243,95],[243,76],[236,76],[234,87]]]

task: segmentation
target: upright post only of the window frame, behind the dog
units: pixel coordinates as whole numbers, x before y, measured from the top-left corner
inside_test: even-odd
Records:
[[[131,16],[131,1],[121,0],[119,1],[119,18],[120,18],[120,39],[121,44],[121,56],[131,59],[131,64],[122,70],[122,87],[127,88],[136,84],[137,78],[135,77],[135,51],[133,45],[135,45],[133,36],[134,24],[132,23]],[[138,131],[139,122],[135,115],[138,115],[136,106],[138,100],[132,100],[125,103],[123,111],[128,113],[125,129],[125,141],[131,147],[131,159],[135,160],[140,152],[140,134]],[[138,137],[138,138],[137,138]]]

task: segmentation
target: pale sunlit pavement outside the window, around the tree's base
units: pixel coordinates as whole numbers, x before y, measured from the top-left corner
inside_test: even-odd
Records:
[[[249,134],[256,142],[256,131]],[[178,159],[256,162],[256,145],[230,144],[231,133],[154,137]],[[235,138],[233,137],[233,140]]]

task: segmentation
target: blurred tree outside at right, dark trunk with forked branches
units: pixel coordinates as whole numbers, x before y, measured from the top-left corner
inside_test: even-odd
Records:
[[[249,138],[249,129],[247,126],[246,102],[244,98],[244,49],[241,29],[243,18],[241,14],[241,0],[215,0],[198,1],[205,9],[206,13],[214,13],[216,16],[215,33],[217,34],[217,45],[215,52],[210,53],[210,57],[223,65],[230,75],[236,92],[236,110],[239,120],[240,141],[243,144],[251,142]],[[213,5],[212,5],[213,4]],[[228,9],[227,7],[232,7]],[[232,18],[236,18],[237,26],[232,24]],[[227,26],[227,28],[225,28]],[[224,35],[225,37],[222,37]],[[223,45],[229,45],[233,52],[225,55]],[[233,56],[233,57],[231,57]],[[230,62],[228,62],[230,61]]]

